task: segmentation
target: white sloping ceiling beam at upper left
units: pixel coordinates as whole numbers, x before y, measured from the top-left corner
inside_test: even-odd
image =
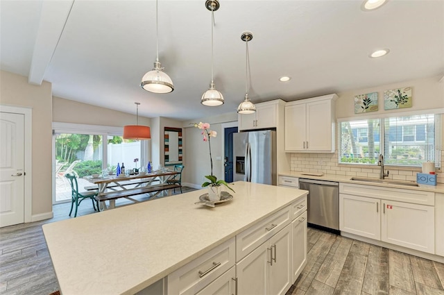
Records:
[[[42,85],[44,73],[56,51],[73,4],[74,0],[42,1],[28,83]]]

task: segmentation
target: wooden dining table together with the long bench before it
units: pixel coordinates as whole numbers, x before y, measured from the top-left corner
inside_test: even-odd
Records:
[[[130,176],[106,176],[101,178],[92,178],[88,176],[86,179],[90,183],[94,183],[99,188],[98,200],[101,201],[103,210],[115,208],[115,200],[125,198],[135,203],[138,200],[131,198],[137,194],[153,193],[153,196],[164,194],[165,190],[171,189],[171,185],[167,185],[167,181],[178,174],[177,171],[155,171],[149,174],[137,174]],[[157,184],[158,182],[158,184]],[[155,185],[153,184],[155,183]],[[96,187],[85,187],[85,189],[97,189]],[[108,207],[105,201],[109,202]]]

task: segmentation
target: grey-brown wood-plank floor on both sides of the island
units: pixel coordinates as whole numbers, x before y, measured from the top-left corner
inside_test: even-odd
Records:
[[[47,295],[59,288],[42,224],[72,218],[69,206],[54,205],[53,219],[0,228],[0,294]],[[80,205],[78,216],[92,213],[91,203]],[[307,267],[287,294],[444,295],[444,264],[312,228],[308,237]]]

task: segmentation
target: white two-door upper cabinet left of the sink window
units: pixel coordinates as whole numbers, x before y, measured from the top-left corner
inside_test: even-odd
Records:
[[[285,106],[285,151],[333,153],[336,94],[291,101]]]

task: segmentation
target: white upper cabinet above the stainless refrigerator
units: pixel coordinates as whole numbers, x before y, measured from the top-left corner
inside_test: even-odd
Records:
[[[278,127],[279,104],[281,99],[257,103],[256,112],[250,115],[238,115],[239,131]]]

